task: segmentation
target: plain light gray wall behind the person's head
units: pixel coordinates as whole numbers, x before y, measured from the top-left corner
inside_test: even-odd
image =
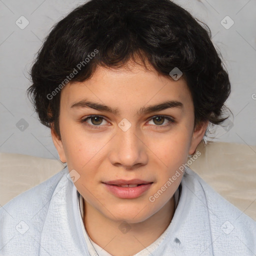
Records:
[[[1,152],[58,158],[50,130],[37,120],[26,97],[28,71],[51,26],[83,2],[0,0]],[[174,2],[209,26],[214,46],[220,50],[229,73],[231,94],[226,105],[234,118],[224,122],[225,127],[216,126],[211,134],[216,138],[209,140],[256,145],[256,0]],[[26,21],[20,16],[29,22],[23,29],[20,26]],[[229,27],[232,20],[234,24]]]

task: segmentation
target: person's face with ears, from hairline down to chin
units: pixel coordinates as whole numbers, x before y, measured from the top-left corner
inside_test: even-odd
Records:
[[[174,81],[128,64],[129,70],[98,66],[89,80],[62,88],[61,140],[51,134],[60,160],[79,173],[74,184],[86,204],[104,217],[136,223],[173,196],[183,173],[167,181],[194,152],[207,123],[193,130],[192,97],[182,76]],[[148,108],[166,101],[165,108]],[[119,187],[116,180],[146,184]]]

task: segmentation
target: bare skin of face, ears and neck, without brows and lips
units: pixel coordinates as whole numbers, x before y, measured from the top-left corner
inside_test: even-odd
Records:
[[[74,102],[85,98],[118,108],[120,115],[93,108],[70,109]],[[181,101],[183,108],[136,115],[140,107],[165,100]],[[82,123],[88,115],[104,119],[88,118]],[[175,121],[155,119],[155,115]],[[125,132],[118,126],[123,118],[131,124]],[[195,129],[193,123],[192,97],[182,76],[175,81],[131,60],[118,69],[97,66],[89,80],[68,83],[61,90],[61,140],[51,129],[52,140],[60,160],[67,163],[69,171],[75,169],[80,175],[74,184],[83,197],[84,226],[104,250],[114,256],[133,255],[167,228],[174,214],[173,194],[183,173],[154,202],[148,198],[186,162],[202,140],[208,121]],[[122,199],[101,183],[119,178],[140,178],[153,184],[137,198]],[[119,227],[123,221],[129,229],[125,233]]]

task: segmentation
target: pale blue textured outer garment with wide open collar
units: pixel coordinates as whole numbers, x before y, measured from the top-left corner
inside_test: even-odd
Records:
[[[255,255],[256,222],[186,168],[166,236],[154,256]],[[0,208],[0,255],[90,255],[68,169]]]

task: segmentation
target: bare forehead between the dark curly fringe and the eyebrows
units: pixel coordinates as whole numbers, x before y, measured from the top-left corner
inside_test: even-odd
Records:
[[[186,81],[173,80],[153,68],[128,62],[120,68],[97,66],[92,76],[83,82],[70,82],[61,90],[61,102],[71,107],[82,99],[107,105],[133,108],[166,100],[192,101]],[[130,102],[130,104],[129,104]]]

